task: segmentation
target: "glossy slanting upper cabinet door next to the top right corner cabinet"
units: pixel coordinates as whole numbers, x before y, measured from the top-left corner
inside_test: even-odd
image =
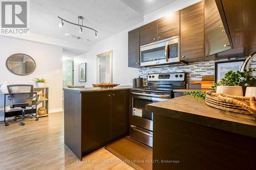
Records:
[[[231,48],[215,0],[204,1],[204,29],[205,56]]]

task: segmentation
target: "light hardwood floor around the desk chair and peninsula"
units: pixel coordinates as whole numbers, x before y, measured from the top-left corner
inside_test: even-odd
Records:
[[[82,162],[64,143],[63,113],[25,120],[5,127],[0,123],[0,169],[134,169],[105,149]],[[98,161],[98,162],[94,162]],[[103,163],[102,163],[103,162]]]

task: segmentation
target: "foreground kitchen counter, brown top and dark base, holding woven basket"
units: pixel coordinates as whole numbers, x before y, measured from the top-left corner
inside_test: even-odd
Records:
[[[153,169],[255,169],[256,117],[190,96],[153,103]]]

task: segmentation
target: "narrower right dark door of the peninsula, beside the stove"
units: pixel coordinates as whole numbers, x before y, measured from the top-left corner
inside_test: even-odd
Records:
[[[111,138],[116,138],[126,132],[126,100],[125,90],[113,91],[111,93]]]

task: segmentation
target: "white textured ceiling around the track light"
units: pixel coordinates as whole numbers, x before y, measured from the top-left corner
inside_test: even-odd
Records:
[[[30,31],[34,34],[53,37],[79,44],[90,45],[122,30],[143,22],[143,15],[153,12],[175,0],[30,0]],[[97,30],[83,29],[64,22],[59,28],[60,16],[71,22],[78,22],[77,16],[83,16],[84,26]],[[81,39],[70,38],[72,34]],[[89,41],[84,41],[88,39]]]

